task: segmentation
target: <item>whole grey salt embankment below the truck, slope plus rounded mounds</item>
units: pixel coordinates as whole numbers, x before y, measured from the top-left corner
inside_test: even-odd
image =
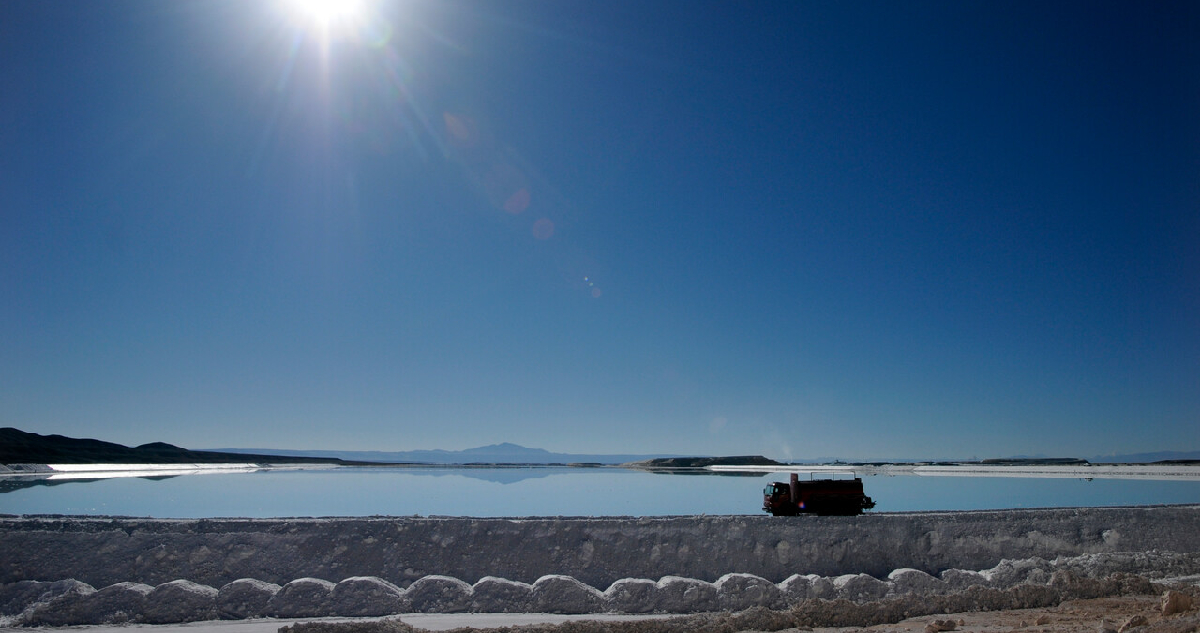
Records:
[[[1200,506],[793,518],[0,517],[0,610],[47,625],[380,610],[696,613],[1014,583],[1052,589],[1073,574],[1200,574],[1196,525]],[[1062,593],[1051,589],[1036,593]]]

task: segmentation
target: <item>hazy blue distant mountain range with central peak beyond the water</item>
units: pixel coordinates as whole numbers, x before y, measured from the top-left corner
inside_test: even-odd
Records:
[[[277,457],[324,457],[350,462],[389,464],[625,464],[646,459],[684,457],[678,454],[584,454],[552,453],[545,448],[503,442],[463,451],[290,451],[281,448],[214,448],[223,453],[257,453]]]

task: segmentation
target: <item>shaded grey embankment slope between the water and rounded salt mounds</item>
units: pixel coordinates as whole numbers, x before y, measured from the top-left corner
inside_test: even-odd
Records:
[[[1200,506],[869,513],[862,517],[137,519],[0,517],[0,583],[221,586],[356,575],[407,586],[445,574],[593,586],[731,572],[773,583],[893,569],[986,569],[1003,559],[1200,551]],[[86,555],[82,555],[88,553]]]

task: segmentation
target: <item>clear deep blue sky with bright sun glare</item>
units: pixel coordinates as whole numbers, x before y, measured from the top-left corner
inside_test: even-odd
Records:
[[[318,13],[0,2],[0,426],[1200,450],[1200,4]]]

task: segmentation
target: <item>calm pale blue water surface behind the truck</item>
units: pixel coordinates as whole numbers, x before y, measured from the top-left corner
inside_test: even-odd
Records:
[[[661,475],[624,469],[340,468],[168,478],[0,481],[0,513],[200,517],[600,517],[761,514],[784,474]],[[1200,481],[863,477],[872,512],[1200,504]]]

